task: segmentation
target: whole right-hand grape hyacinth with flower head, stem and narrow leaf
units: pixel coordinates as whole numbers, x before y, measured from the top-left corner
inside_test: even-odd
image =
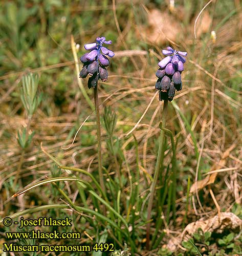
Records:
[[[148,208],[147,208],[147,226],[146,226],[146,247],[150,248],[150,225],[149,222],[151,218],[151,210],[153,205],[153,200],[155,196],[156,186],[158,183],[159,177],[161,177],[161,173],[163,172],[163,159],[164,159],[164,136],[167,133],[171,138],[171,146],[172,146],[172,186],[170,186],[170,193],[169,196],[172,197],[172,208],[173,208],[173,218],[175,218],[175,189],[176,189],[176,159],[175,159],[175,145],[172,133],[170,130],[166,129],[166,117],[167,117],[167,109],[168,109],[168,101],[172,101],[175,95],[175,91],[182,90],[182,77],[181,73],[184,70],[184,63],[186,61],[185,56],[187,56],[187,52],[181,52],[177,50],[173,50],[171,47],[167,47],[166,50],[162,50],[164,55],[167,55],[163,58],[159,63],[158,66],[160,67],[157,72],[156,76],[158,80],[156,82],[155,89],[159,91],[159,100],[163,101],[163,113],[162,113],[162,121],[160,123],[161,133],[159,138],[159,148],[158,148],[158,156],[157,162],[155,167],[155,174],[153,177],[153,181],[150,187],[150,198],[148,201]],[[163,196],[164,196],[163,190]],[[163,197],[164,199],[164,197]],[[158,199],[160,201],[160,198]],[[161,200],[163,203],[159,203],[158,208],[158,218],[161,216],[162,207],[164,204],[164,200]],[[169,215],[169,211],[167,212]],[[153,234],[153,238],[151,243],[153,244],[156,240],[158,230],[161,226],[161,218],[158,219],[156,223],[156,231]]]

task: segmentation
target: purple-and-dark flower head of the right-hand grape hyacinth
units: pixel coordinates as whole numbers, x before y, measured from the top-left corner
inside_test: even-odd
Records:
[[[187,56],[187,52],[180,52],[167,47],[166,50],[162,50],[162,53],[168,56],[158,63],[160,69],[156,72],[158,80],[155,88],[159,91],[160,101],[171,101],[175,95],[175,90],[182,90],[181,74],[184,70],[183,63],[186,62],[184,57]]]

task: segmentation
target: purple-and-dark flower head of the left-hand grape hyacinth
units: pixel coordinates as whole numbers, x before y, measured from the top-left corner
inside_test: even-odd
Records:
[[[80,57],[83,63],[80,78],[90,75],[87,82],[89,89],[97,86],[99,78],[102,81],[107,80],[106,67],[109,65],[109,60],[106,56],[114,57],[114,52],[102,46],[103,44],[111,45],[112,41],[106,41],[106,38],[103,36],[97,37],[96,42],[84,45],[84,48],[90,50],[90,52]]]

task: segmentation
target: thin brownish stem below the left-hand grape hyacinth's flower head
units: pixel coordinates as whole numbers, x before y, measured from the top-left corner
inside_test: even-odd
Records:
[[[104,180],[103,180],[103,174],[102,174],[101,122],[100,122],[97,86],[94,88],[94,102],[95,102],[96,122],[97,122],[97,138],[98,138],[98,174],[99,174],[101,188],[103,190],[104,195],[106,195],[106,189],[104,186]]]

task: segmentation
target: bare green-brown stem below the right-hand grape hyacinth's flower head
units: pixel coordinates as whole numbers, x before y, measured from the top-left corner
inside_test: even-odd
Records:
[[[165,127],[165,125],[166,125],[167,106],[168,106],[168,100],[164,100],[163,115],[162,115],[163,127]],[[162,154],[162,148],[164,145],[164,135],[165,135],[165,132],[163,130],[161,130],[160,144],[159,144],[158,157],[157,157],[156,169],[155,169],[155,176],[153,178],[153,182],[152,182],[151,188],[150,188],[150,198],[149,198],[148,209],[147,209],[147,221],[149,221],[150,217],[151,217],[151,209],[152,209],[152,205],[153,205],[153,199],[155,196],[155,190],[156,190],[158,177],[160,174],[161,162],[163,162],[161,160],[163,159],[162,155],[164,154],[164,151]],[[146,248],[147,249],[149,249],[149,234],[150,234],[150,222],[148,222],[146,225]]]

